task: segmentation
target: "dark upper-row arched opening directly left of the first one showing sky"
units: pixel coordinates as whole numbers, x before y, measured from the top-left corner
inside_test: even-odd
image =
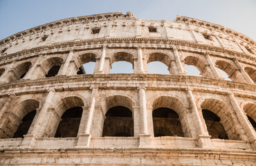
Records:
[[[42,63],[42,68],[38,73],[38,77],[54,77],[55,75],[57,75],[57,73],[59,73],[62,62],[63,59],[60,57],[51,57],[49,59],[46,59]]]

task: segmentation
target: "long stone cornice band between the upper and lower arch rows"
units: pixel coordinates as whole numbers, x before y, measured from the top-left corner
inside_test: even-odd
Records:
[[[130,80],[131,84],[127,84],[127,80]],[[183,75],[181,77],[181,75],[154,74],[73,75],[38,80],[19,80],[10,84],[1,85],[0,97],[4,98],[12,91],[16,95],[46,93],[50,87],[54,87],[55,91],[90,90],[92,84],[98,85],[99,89],[135,91],[141,85],[151,91],[186,91],[188,88],[192,88],[196,92],[217,93],[221,95],[227,95],[229,92],[232,92],[237,96],[256,99],[255,84],[214,80],[189,75]]]

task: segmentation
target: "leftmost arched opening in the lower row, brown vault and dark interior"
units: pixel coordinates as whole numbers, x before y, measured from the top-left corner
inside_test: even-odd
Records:
[[[15,133],[15,138],[28,133],[28,130],[30,129],[30,125],[33,122],[33,119],[35,117],[35,113],[32,116],[29,121],[26,121],[26,124],[24,125],[24,117],[26,117],[30,112],[35,111],[39,108],[39,102],[37,100],[28,99],[24,100],[22,102],[19,102],[12,111],[8,111],[3,116],[3,126],[1,124],[1,138],[13,138]]]

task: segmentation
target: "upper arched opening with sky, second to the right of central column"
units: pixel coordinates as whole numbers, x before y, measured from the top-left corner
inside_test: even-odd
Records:
[[[208,67],[205,66],[203,60],[199,59],[198,57],[185,57],[184,61],[188,75],[211,77]]]

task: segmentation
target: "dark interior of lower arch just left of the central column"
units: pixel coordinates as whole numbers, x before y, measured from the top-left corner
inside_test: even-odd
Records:
[[[134,136],[134,120],[131,110],[126,107],[112,107],[106,113],[102,136],[132,137]]]

